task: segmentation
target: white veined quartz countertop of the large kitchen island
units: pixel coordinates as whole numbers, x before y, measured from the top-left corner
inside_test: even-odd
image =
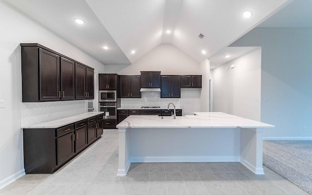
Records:
[[[121,121],[117,128],[272,128],[274,125],[228,115],[226,113],[196,113],[184,117],[132,115]]]

